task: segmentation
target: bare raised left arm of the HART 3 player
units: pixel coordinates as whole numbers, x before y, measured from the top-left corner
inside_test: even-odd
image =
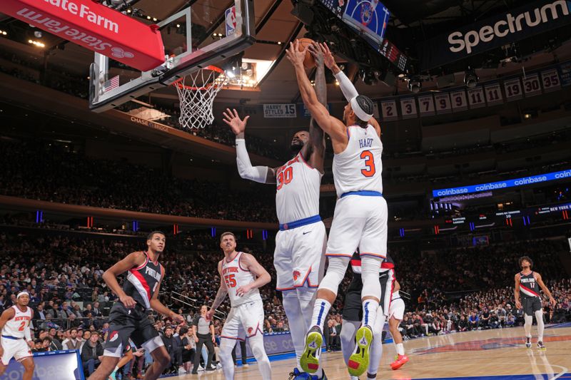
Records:
[[[293,64],[295,68],[295,76],[298,79],[298,86],[303,99],[303,103],[308,108],[309,112],[313,116],[313,119],[317,121],[321,129],[330,135],[331,139],[335,142],[341,141],[346,143],[347,128],[336,118],[333,118],[327,108],[323,104],[319,103],[317,95],[315,94],[315,89],[311,86],[307,73],[305,73],[305,68],[303,67],[303,58],[308,48],[303,51],[299,51],[299,41],[295,43],[290,43],[290,48],[288,48],[285,53],[288,60]]]

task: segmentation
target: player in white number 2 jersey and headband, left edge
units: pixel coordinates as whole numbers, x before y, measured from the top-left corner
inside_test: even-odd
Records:
[[[31,380],[34,374],[34,356],[31,354],[31,347],[34,341],[31,340],[30,323],[34,312],[28,307],[30,294],[19,292],[16,296],[16,304],[4,310],[0,316],[0,376],[6,371],[6,366],[10,359],[15,358],[24,366],[24,376],[22,380]]]

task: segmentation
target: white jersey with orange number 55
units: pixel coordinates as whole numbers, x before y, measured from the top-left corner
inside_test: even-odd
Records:
[[[252,289],[242,297],[236,294],[236,289],[251,284],[256,280],[256,277],[254,277],[249,270],[243,269],[240,266],[240,258],[242,255],[243,252],[238,252],[238,255],[236,255],[236,257],[234,257],[230,262],[226,261],[226,257],[222,260],[222,277],[224,282],[226,282],[231,307],[236,307],[241,304],[245,304],[246,302],[252,302],[258,299],[260,301],[262,300],[258,288]]]

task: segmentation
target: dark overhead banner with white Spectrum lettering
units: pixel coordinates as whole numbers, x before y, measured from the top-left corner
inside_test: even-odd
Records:
[[[571,24],[571,2],[532,1],[419,43],[420,68],[428,70],[442,66],[567,24]]]

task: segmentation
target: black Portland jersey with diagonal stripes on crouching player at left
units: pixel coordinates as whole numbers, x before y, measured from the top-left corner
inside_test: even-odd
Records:
[[[129,269],[127,280],[123,283],[123,292],[133,297],[137,304],[144,309],[151,309],[151,297],[161,282],[163,267],[158,262],[149,260],[145,252],[146,260],[140,266]]]

